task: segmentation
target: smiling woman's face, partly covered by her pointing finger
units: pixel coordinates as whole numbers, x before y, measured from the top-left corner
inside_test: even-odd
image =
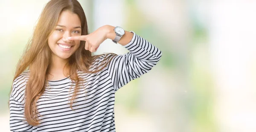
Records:
[[[70,36],[81,35],[81,21],[77,14],[62,11],[57,26],[48,38],[48,45],[54,57],[67,59],[76,52],[80,40],[68,40]]]

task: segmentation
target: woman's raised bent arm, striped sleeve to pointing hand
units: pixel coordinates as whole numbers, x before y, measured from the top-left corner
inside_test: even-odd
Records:
[[[114,27],[105,25],[88,35],[69,37],[69,40],[84,40],[85,49],[95,52],[97,47],[106,39],[115,38]],[[108,65],[114,90],[124,86],[131,80],[149,72],[157,64],[162,52],[144,38],[134,32],[127,32],[119,42],[129,50],[125,55],[115,56]]]

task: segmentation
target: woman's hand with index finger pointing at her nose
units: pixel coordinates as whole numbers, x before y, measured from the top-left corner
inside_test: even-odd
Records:
[[[107,39],[107,33],[108,28],[106,26],[102,26],[90,34],[68,37],[68,40],[86,41],[84,49],[89,50],[90,52],[96,52],[99,45]]]

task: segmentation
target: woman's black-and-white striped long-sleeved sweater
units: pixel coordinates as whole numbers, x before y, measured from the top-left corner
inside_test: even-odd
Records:
[[[134,33],[129,50],[113,57],[101,71],[93,74],[77,72],[83,83],[70,108],[74,90],[73,80],[49,80],[43,95],[37,102],[40,124],[31,126],[24,118],[24,93],[29,71],[23,72],[13,82],[10,95],[10,130],[12,132],[115,132],[115,92],[157,64],[162,52],[147,40]],[[97,58],[92,66],[104,62],[106,55]],[[71,89],[70,89],[71,87]]]

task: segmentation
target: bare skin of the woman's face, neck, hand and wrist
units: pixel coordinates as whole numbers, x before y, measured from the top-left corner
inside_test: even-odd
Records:
[[[74,28],[76,27],[76,28]],[[106,39],[113,40],[116,37],[114,26],[105,25],[96,31],[81,35],[81,21],[77,14],[70,11],[63,11],[60,14],[57,26],[48,38],[49,48],[52,50],[52,62],[49,65],[48,80],[60,80],[67,77],[64,69],[68,58],[78,49],[81,41],[86,41],[84,49],[96,52],[100,44]],[[119,44],[125,46],[133,37],[132,32],[125,31],[119,40]],[[70,50],[64,51],[58,44],[71,46]]]

